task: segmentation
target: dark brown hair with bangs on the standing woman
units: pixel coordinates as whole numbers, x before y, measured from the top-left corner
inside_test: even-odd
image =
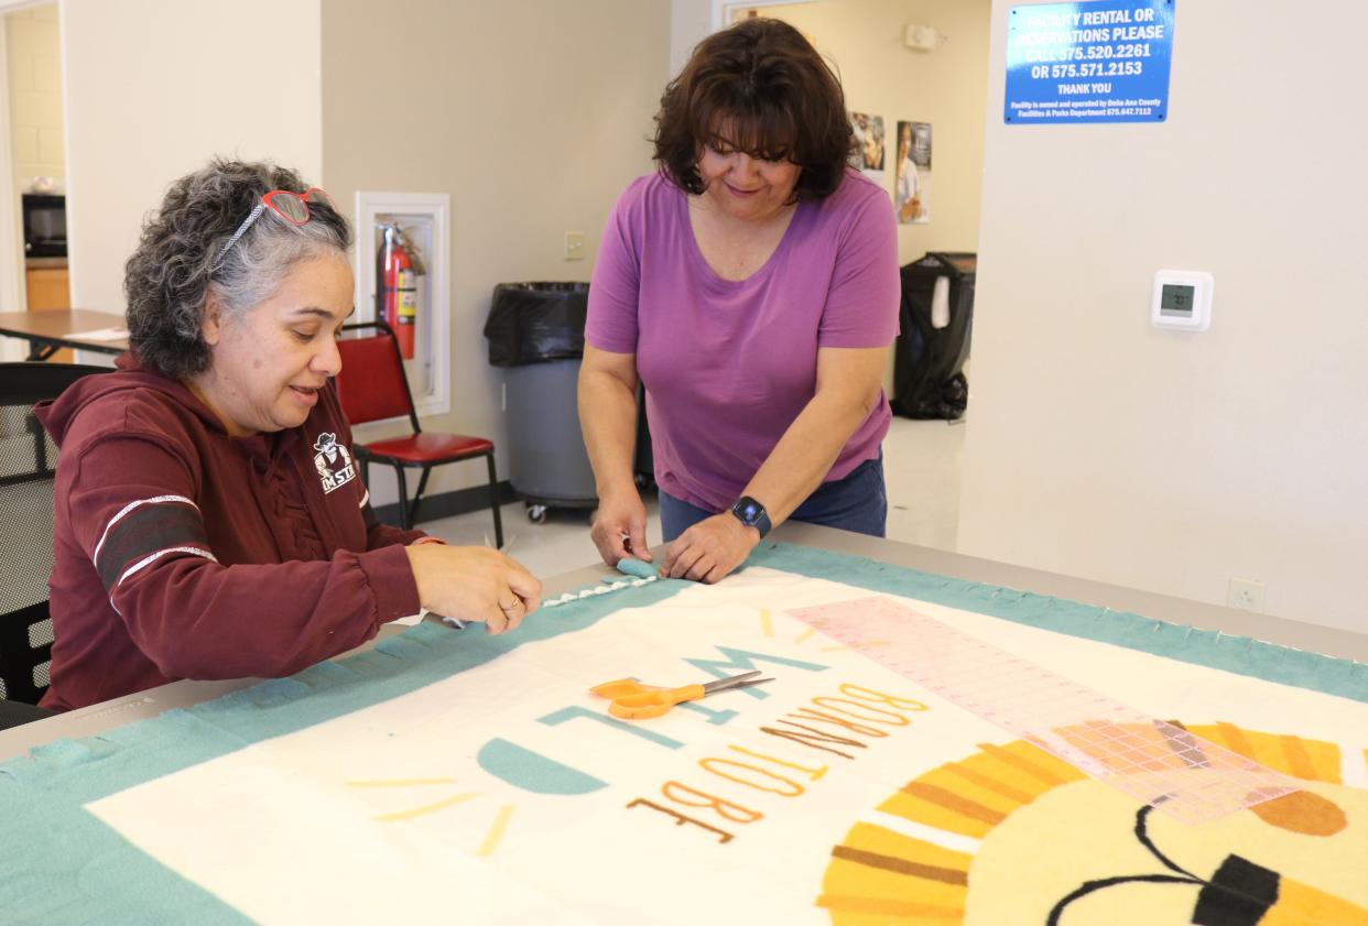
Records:
[[[689,193],[703,191],[702,148],[725,142],[798,164],[795,198],[821,200],[840,186],[855,133],[841,82],[817,49],[785,22],[752,18],[694,49],[661,97],[654,142],[661,174]]]

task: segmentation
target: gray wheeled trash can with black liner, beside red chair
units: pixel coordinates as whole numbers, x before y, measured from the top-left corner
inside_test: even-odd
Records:
[[[576,384],[588,283],[499,283],[484,336],[505,372],[509,483],[540,522],[547,509],[594,509]]]

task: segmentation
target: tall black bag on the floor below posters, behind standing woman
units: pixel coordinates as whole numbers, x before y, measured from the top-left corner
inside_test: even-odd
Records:
[[[930,253],[902,269],[902,332],[893,346],[893,414],[955,421],[969,405],[964,360],[974,316],[975,254]],[[936,279],[949,279],[948,319],[936,327]]]

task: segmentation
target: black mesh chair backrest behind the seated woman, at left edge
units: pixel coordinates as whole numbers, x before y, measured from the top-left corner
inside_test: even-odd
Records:
[[[108,367],[0,364],[0,699],[36,704],[48,687],[52,480],[57,447],[33,406]]]

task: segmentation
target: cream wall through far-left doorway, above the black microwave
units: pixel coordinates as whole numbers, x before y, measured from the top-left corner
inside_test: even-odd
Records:
[[[5,16],[14,189],[66,174],[62,120],[62,37],[57,4]]]

